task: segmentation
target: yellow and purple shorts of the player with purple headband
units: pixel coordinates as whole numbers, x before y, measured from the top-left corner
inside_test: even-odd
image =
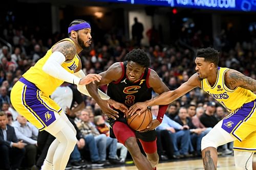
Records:
[[[11,90],[11,103],[39,131],[44,130],[60,117],[62,109],[35,84],[20,78]]]

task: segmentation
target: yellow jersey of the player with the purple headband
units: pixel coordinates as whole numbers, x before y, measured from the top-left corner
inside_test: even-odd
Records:
[[[74,43],[70,38],[65,38],[65,39],[62,39],[61,41],[65,41],[65,40],[68,40]],[[55,45],[53,45],[51,49],[48,50],[46,55],[40,60],[38,60],[36,64],[30,67],[29,70],[26,71],[25,74],[23,75],[25,79],[34,83],[36,87],[42,92],[44,92],[45,95],[47,96],[51,95],[52,92],[63,83],[62,80],[56,79],[48,75],[45,71],[42,70],[42,66],[44,66],[47,59],[51,56],[52,48]],[[79,56],[76,54],[72,60],[65,61],[64,63],[61,64],[61,66],[73,74],[76,68],[78,67],[78,63],[79,63]]]

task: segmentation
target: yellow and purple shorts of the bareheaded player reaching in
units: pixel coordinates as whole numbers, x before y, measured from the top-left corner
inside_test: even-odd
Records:
[[[222,128],[237,140],[234,150],[256,151],[256,100],[223,118]]]

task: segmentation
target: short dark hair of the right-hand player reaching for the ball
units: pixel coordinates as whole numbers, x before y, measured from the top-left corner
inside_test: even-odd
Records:
[[[197,57],[202,57],[205,61],[214,63],[215,66],[219,63],[219,52],[211,47],[198,49]]]

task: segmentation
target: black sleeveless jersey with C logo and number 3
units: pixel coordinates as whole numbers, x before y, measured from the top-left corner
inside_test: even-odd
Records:
[[[136,82],[130,82],[126,78],[127,62],[120,62],[122,76],[116,82],[108,85],[108,95],[111,99],[126,105],[128,108],[137,102],[145,102],[152,98],[152,88],[148,85],[148,77],[151,69],[146,68],[144,74]],[[118,110],[119,111],[119,110]],[[119,111],[119,118],[123,117],[123,112]],[[119,119],[117,118],[117,119]]]

